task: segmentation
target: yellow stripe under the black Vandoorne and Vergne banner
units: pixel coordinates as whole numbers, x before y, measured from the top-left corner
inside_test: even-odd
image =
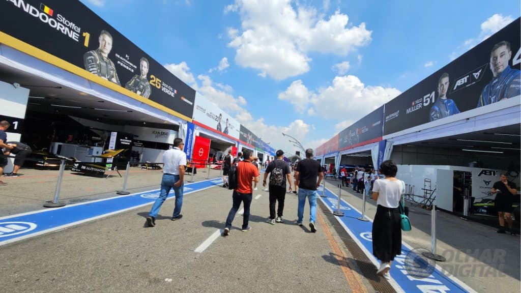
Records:
[[[45,6],[45,9],[48,10],[48,7]],[[99,76],[91,74],[91,72],[84,70],[83,68],[80,68],[72,63],[69,63],[65,61],[64,59],[58,58],[54,55],[51,55],[35,46],[32,46],[26,42],[20,41],[13,36],[10,36],[2,31],[0,31],[0,43],[8,45],[9,47],[13,47],[18,51],[21,51],[23,53],[26,53],[28,55],[31,55],[35,58],[38,58],[40,60],[43,60],[47,63],[50,63],[52,65],[55,65],[61,69],[65,69],[69,72],[72,72],[75,75],[81,76],[85,79],[88,79],[90,81],[94,81],[95,83],[101,84],[102,86],[109,88],[113,91],[116,91],[118,93],[124,94],[126,96],[131,97],[134,100],[138,100],[144,104],[147,104],[149,106],[152,106],[156,109],[159,109],[161,111],[164,111],[168,114],[172,114],[176,117],[179,117],[183,120],[187,120],[189,122],[192,122],[192,118],[185,116],[181,113],[178,113],[177,111],[173,111],[172,109],[163,106],[159,103],[156,103],[154,101],[148,100],[145,97],[140,96],[137,93],[134,93],[132,91],[129,91],[123,87],[118,86],[116,83],[105,80]]]

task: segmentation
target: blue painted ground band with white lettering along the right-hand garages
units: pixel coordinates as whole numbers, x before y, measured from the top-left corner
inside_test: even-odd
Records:
[[[318,194],[322,194],[322,187],[319,188]],[[338,196],[326,188],[327,198],[318,197],[324,202],[331,211],[337,210]],[[347,209],[346,209],[347,208]],[[355,241],[361,246],[362,250],[368,255],[373,263],[379,265],[379,262],[373,255],[373,237],[371,231],[373,229],[373,221],[359,221],[357,217],[362,216],[355,207],[342,199],[340,209],[344,212],[343,217],[338,217],[338,221],[355,238]],[[402,254],[398,255],[392,262],[393,270],[390,271],[396,288],[396,291],[403,292],[475,292],[472,288],[466,286],[460,280],[449,277],[440,271],[440,267],[430,265],[425,262],[423,257],[418,257],[415,251],[411,252],[411,247],[402,242]],[[394,282],[391,282],[391,284]]]

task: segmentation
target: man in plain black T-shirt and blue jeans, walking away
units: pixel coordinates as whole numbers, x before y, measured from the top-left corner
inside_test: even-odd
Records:
[[[299,186],[299,211],[296,224],[302,226],[304,205],[306,204],[307,197],[309,201],[309,228],[311,228],[313,233],[317,231],[315,226],[317,216],[317,188],[320,186],[322,177],[324,177],[324,173],[322,172],[320,163],[313,160],[313,150],[307,149],[305,160],[299,162],[295,171],[295,186]]]

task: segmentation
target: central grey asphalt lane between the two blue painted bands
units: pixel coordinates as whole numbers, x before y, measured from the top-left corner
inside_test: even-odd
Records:
[[[159,178],[155,172],[155,181]],[[271,225],[268,193],[259,188],[254,197],[252,230],[239,229],[238,214],[228,237],[220,234],[231,191],[213,187],[187,194],[178,221],[170,220],[174,201],[167,200],[152,228],[145,225],[147,205],[4,245],[1,291],[374,292],[344,261],[352,256],[321,211],[317,233],[307,226],[308,206],[306,226],[295,225],[297,200],[288,193],[286,221]]]

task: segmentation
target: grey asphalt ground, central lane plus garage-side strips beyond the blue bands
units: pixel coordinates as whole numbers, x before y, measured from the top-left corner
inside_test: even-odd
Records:
[[[41,210],[54,197],[56,170],[21,173],[25,175],[2,179],[9,185],[0,187],[0,216]],[[65,174],[60,200],[68,203],[114,197],[122,189],[123,178],[117,174],[108,179]],[[129,174],[130,192],[159,187],[159,170],[133,168]],[[218,174],[211,170],[209,177]],[[200,172],[194,181],[206,177]],[[339,183],[328,180],[326,187],[337,192]],[[187,194],[183,218],[175,222],[169,219],[173,201],[168,200],[154,228],[144,226],[149,205],[2,246],[0,291],[371,292],[375,282],[385,284],[361,272],[359,265],[364,263],[345,245],[350,237],[338,229],[327,209],[317,209],[318,232],[309,233],[308,226],[294,224],[296,196],[287,194],[287,221],[272,226],[265,222],[268,194],[260,187],[254,197],[259,194],[252,203],[252,230],[243,233],[237,228],[242,223],[238,215],[231,235],[218,236],[202,253],[195,250],[224,227],[231,207],[227,189]],[[360,194],[351,188],[343,188],[342,198],[362,209]],[[374,202],[368,199],[366,214],[372,218],[374,213]],[[305,224],[307,214],[306,205]],[[452,214],[437,216],[437,253],[447,258],[438,264],[447,273],[478,292],[520,289],[519,237],[495,234],[493,227]],[[413,248],[430,249],[430,212],[411,207],[410,218],[413,230],[403,233],[403,240]]]

